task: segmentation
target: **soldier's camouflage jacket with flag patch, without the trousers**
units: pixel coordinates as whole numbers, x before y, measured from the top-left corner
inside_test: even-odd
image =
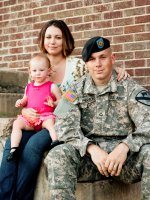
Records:
[[[83,76],[63,95],[55,115],[59,140],[72,144],[81,156],[88,143],[108,153],[120,142],[130,152],[150,143],[150,96],[132,78],[117,82],[115,72],[103,88]]]

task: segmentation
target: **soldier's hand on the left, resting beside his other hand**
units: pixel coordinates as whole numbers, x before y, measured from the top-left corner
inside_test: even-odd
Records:
[[[105,162],[108,157],[108,153],[102,150],[95,144],[90,144],[87,147],[87,152],[90,154],[93,163],[97,166],[99,172],[103,175],[108,177],[107,167],[105,167]]]

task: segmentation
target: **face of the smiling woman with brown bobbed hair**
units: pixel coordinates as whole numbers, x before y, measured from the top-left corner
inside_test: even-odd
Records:
[[[50,26],[45,32],[44,47],[49,55],[57,56],[63,54],[63,37],[62,31],[55,27]]]

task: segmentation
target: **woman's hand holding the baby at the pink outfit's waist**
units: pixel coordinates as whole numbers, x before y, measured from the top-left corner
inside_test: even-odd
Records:
[[[40,114],[33,108],[23,108],[22,115],[30,122],[36,122]]]

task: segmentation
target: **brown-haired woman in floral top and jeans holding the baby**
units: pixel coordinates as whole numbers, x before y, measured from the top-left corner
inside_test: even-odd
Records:
[[[40,50],[47,54],[52,65],[51,81],[58,84],[62,92],[85,73],[84,62],[70,56],[74,39],[62,20],[47,22],[40,31],[38,42]],[[24,108],[22,114],[32,121],[38,118],[34,109]],[[0,199],[33,200],[43,155],[50,150],[51,142],[46,129],[37,133],[23,131],[18,159],[7,162],[10,139],[7,140],[0,169]]]

